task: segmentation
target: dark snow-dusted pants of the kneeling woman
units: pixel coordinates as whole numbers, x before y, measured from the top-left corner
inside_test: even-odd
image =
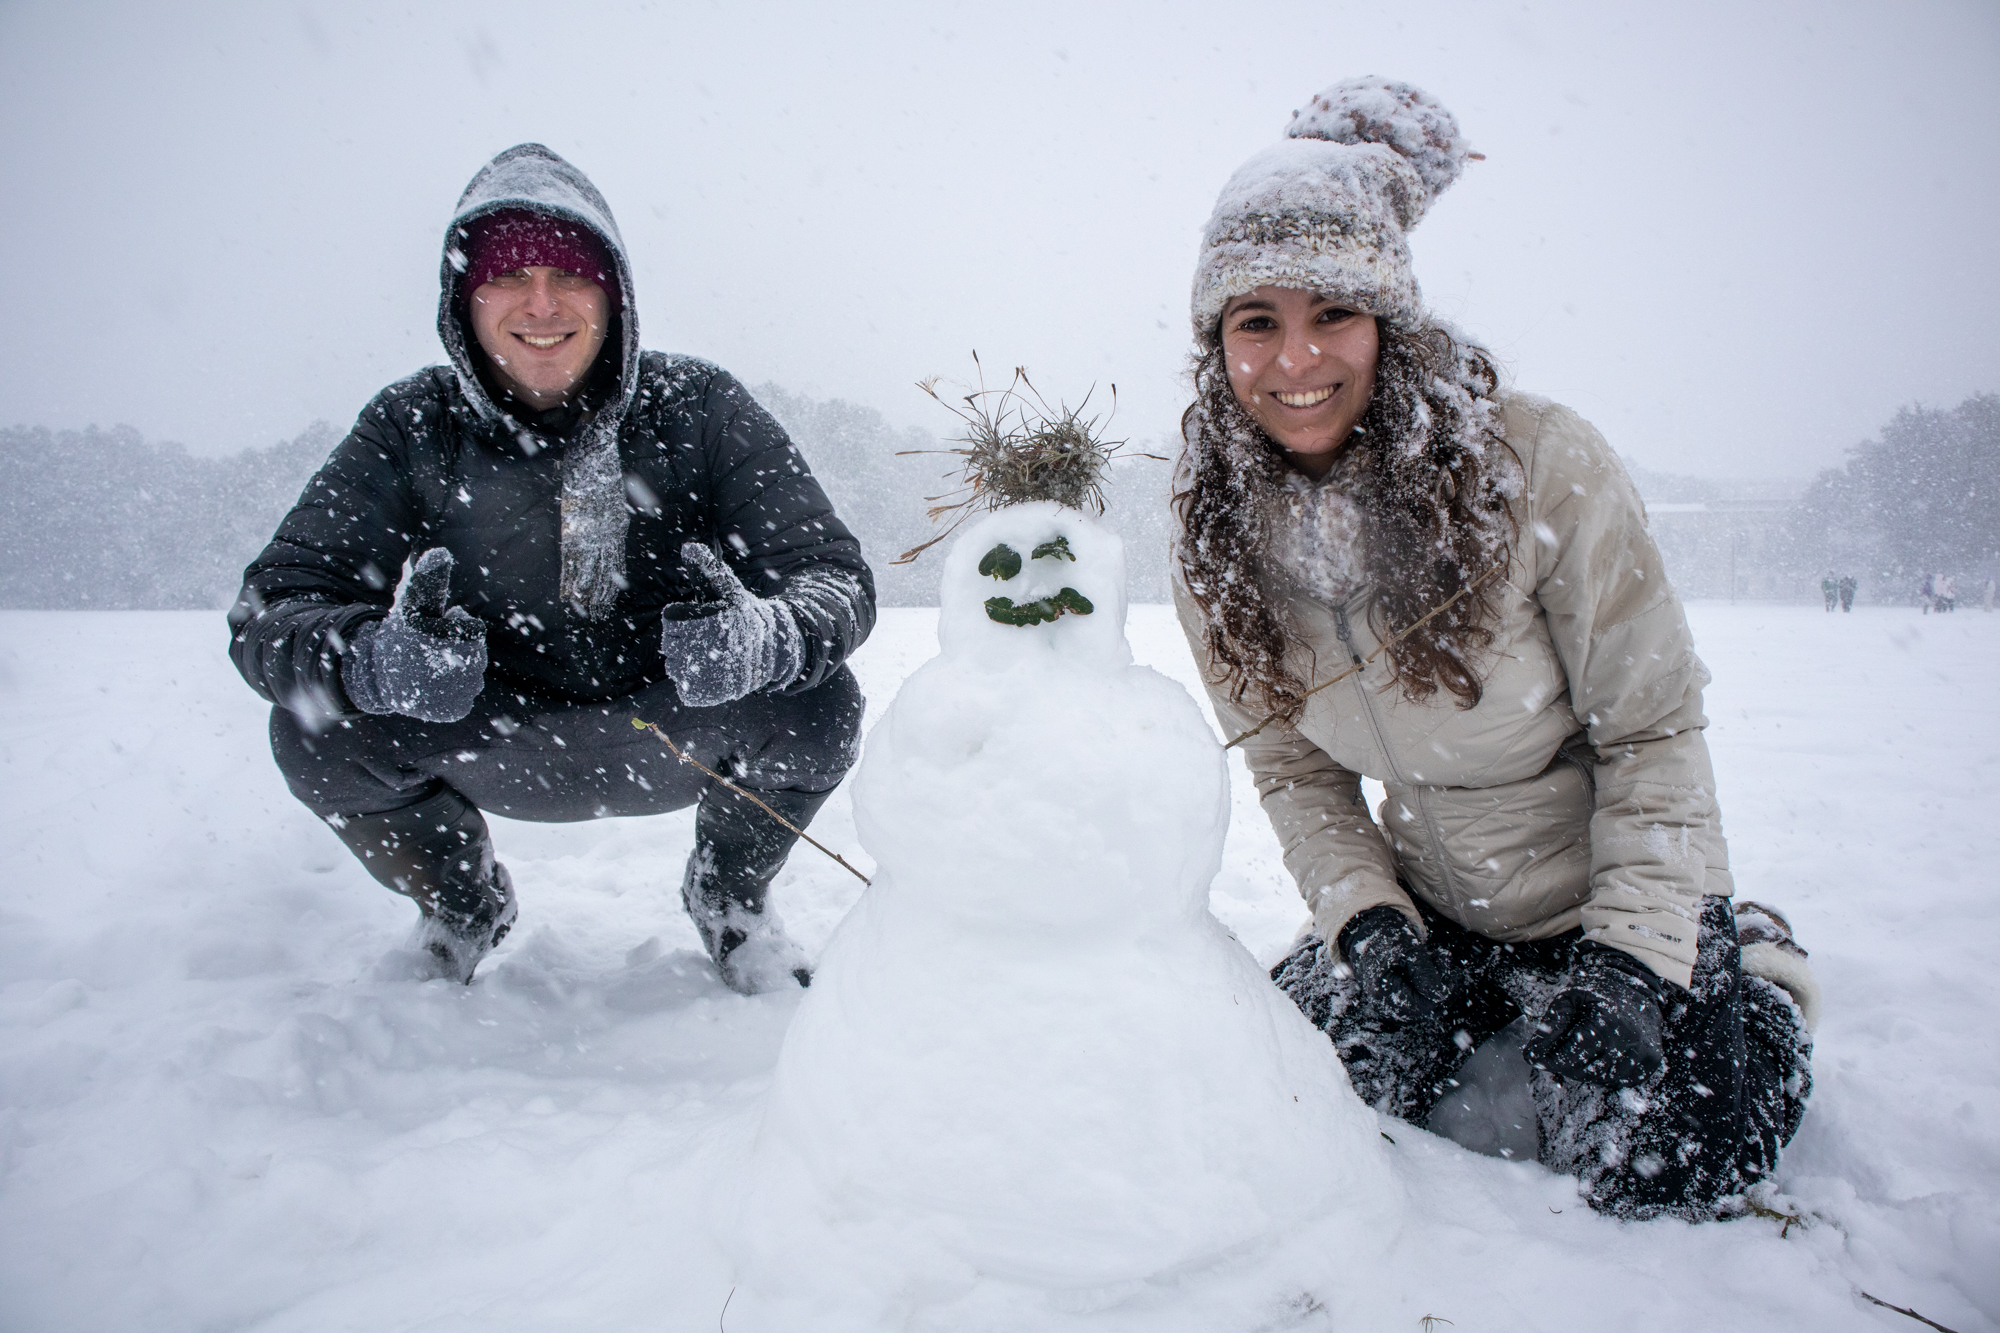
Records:
[[[1356,1003],[1354,975],[1318,937],[1272,969],[1272,981],[1332,1037],[1362,1101],[1422,1125],[1482,1041],[1548,1007],[1582,933],[1504,945],[1420,901],[1418,911],[1456,979],[1436,1021],[1372,1023]],[[1716,1217],[1776,1167],[1798,1129],[1812,1085],[1810,1037],[1784,991],[1742,975],[1728,899],[1702,901],[1692,985],[1662,1017],[1666,1065],[1642,1087],[1532,1073],[1538,1155],[1578,1177],[1600,1213]]]

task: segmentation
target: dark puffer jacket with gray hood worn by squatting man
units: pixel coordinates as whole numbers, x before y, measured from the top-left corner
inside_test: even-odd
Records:
[[[474,218],[536,208],[590,226],[618,262],[618,328],[578,398],[504,398],[466,322],[460,244]],[[804,632],[812,689],[874,626],[874,576],[772,416],[728,372],[640,352],[632,266],[590,180],[540,144],[494,158],[444,240],[438,336],[450,364],[390,384],[244,570],[230,656],[266,699],[348,717],[338,656],[388,612],[404,560],[456,556],[452,600],[486,620],[488,689],[606,701],[664,679],[660,608],[704,600],[682,542],[714,546]]]

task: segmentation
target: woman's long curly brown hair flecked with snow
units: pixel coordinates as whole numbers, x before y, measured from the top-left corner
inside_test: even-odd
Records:
[[[1500,434],[1500,372],[1492,354],[1440,322],[1384,322],[1374,394],[1348,448],[1360,456],[1362,540],[1376,636],[1390,640],[1472,586],[1420,632],[1388,646],[1406,699],[1442,685],[1470,709],[1480,701],[1476,658],[1492,644],[1496,584],[1484,574],[1508,558],[1520,458]],[[1220,685],[1292,721],[1308,683],[1284,664],[1286,624],[1266,598],[1268,496],[1284,482],[1284,450],[1230,388],[1220,332],[1194,354],[1194,404],[1174,484],[1180,532],[1174,556],[1202,618]]]

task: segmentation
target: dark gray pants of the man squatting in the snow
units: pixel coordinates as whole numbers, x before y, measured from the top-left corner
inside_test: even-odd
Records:
[[[670,683],[588,705],[488,689],[458,723],[388,715],[308,731],[274,709],[270,747],[292,795],[370,875],[418,905],[480,901],[492,867],[480,811],[572,823],[694,805],[688,909],[698,923],[726,907],[762,913],[798,839],[632,719],[658,723],[684,753],[804,829],[854,765],[862,693],[846,666],[800,695],[718,709],[684,707]]]

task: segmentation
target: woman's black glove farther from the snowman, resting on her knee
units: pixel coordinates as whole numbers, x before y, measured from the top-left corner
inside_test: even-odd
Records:
[[[1528,1063],[1566,1081],[1636,1087],[1666,1063],[1662,1011],[1678,989],[1630,953],[1586,939],[1528,1037]]]

